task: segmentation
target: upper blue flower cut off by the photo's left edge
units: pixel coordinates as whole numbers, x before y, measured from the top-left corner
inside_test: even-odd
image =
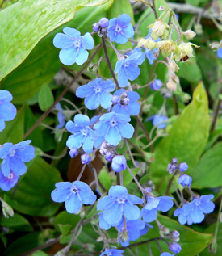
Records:
[[[12,95],[7,90],[0,90],[0,132],[6,127],[5,121],[15,119],[17,110],[15,106],[10,103]]]

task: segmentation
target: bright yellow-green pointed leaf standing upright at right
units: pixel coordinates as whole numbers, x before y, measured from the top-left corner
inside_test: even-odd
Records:
[[[158,183],[158,191],[168,183],[170,175],[166,172],[166,167],[172,158],[177,157],[178,162],[187,162],[187,172],[191,173],[207,143],[209,125],[207,94],[200,82],[194,91],[192,102],[175,121],[169,136],[162,139],[155,149],[155,161],[150,166],[150,173],[155,178],[154,182]]]

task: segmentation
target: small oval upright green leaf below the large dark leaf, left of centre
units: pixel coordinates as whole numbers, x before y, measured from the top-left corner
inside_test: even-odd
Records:
[[[54,97],[52,90],[50,90],[47,84],[43,84],[39,93],[39,105],[41,111],[47,111],[52,106]]]

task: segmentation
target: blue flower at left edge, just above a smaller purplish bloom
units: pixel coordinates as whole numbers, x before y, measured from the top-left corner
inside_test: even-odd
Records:
[[[31,140],[27,140],[15,145],[5,143],[0,146],[0,158],[3,160],[1,169],[5,177],[8,177],[10,171],[16,176],[23,175],[27,171],[25,162],[35,157],[35,148],[29,145],[30,143]]]

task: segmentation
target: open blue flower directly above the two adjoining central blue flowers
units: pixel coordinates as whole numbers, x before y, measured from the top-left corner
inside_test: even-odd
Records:
[[[96,109],[99,104],[103,108],[111,107],[111,91],[115,90],[115,83],[111,80],[103,81],[102,78],[96,78],[85,86],[77,88],[76,95],[79,98],[85,98],[84,103],[88,109]]]

